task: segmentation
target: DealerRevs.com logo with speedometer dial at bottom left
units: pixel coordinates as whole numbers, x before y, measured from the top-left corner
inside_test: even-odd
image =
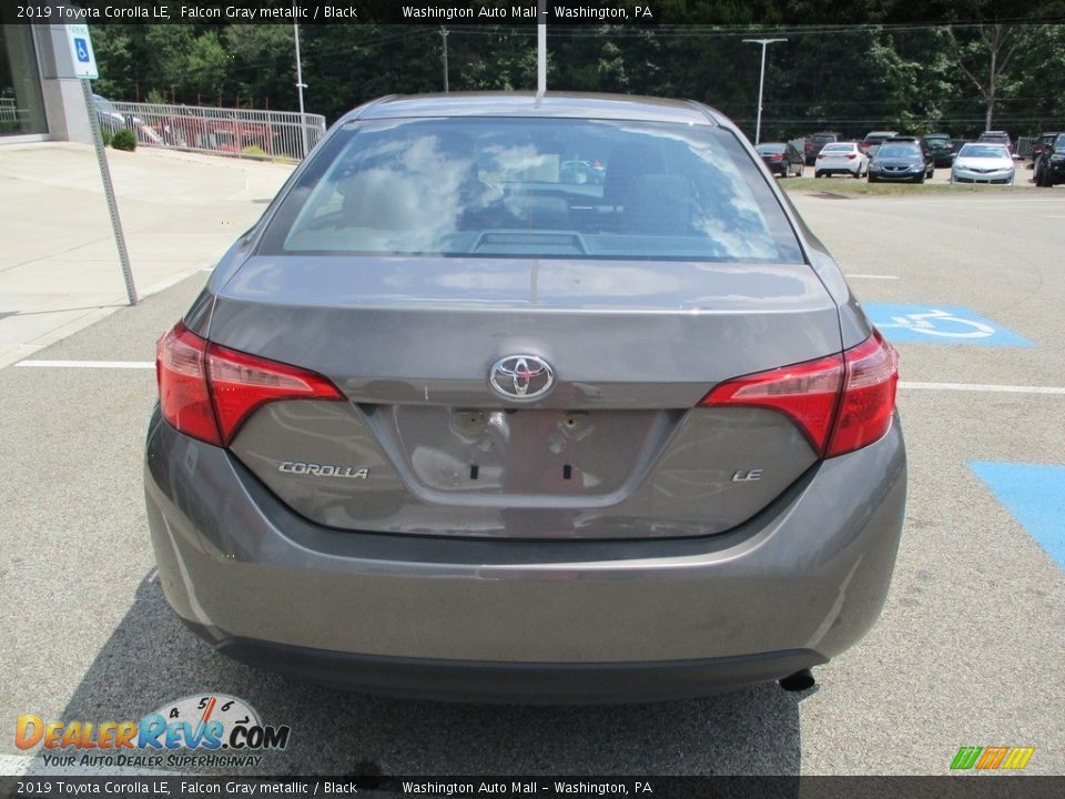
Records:
[[[24,714],[14,745],[41,745],[45,766],[241,767],[284,749],[291,731],[263,725],[243,699],[207,694],[168,702],[139,721],[45,721]]]

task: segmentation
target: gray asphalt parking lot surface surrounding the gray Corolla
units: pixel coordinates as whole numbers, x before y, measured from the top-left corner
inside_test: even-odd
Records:
[[[264,760],[273,773],[941,775],[958,747],[992,745],[1035,747],[1028,772],[1065,773],[1065,188],[793,200],[902,353],[910,453],[883,618],[816,670],[814,690],[440,705],[336,694],[215,655],[160,590],[141,477],[155,391],[144,365],[195,274],[34,354],[141,366],[0,370],[0,719],[139,719],[226,694],[292,727]],[[54,770],[10,731],[0,765]]]

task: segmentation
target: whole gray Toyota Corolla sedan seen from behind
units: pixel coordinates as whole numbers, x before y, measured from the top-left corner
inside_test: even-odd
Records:
[[[255,666],[449,699],[799,689],[888,593],[895,351],[696,102],[352,111],[158,373],[161,583]]]

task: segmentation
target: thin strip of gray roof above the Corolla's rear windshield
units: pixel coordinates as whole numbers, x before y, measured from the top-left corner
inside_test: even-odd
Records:
[[[449,92],[390,95],[345,114],[341,122],[432,117],[545,117],[680,122],[733,129],[719,112],[691,100],[575,92]]]

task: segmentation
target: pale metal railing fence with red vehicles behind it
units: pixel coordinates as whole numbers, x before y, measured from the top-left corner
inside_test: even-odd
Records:
[[[95,100],[97,121],[122,128],[145,146],[240,158],[300,161],[325,134],[325,117],[295,111],[252,111],[212,105],[170,105]]]

